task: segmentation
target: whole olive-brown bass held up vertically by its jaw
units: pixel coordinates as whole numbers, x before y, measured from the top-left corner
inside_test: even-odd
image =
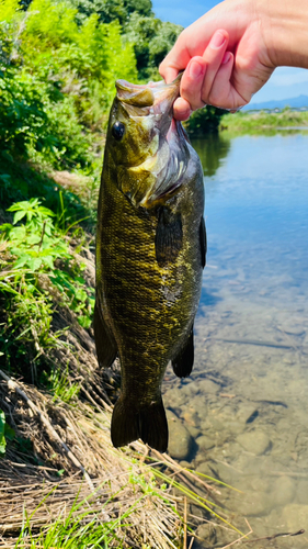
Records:
[[[164,452],[161,385],[187,377],[206,258],[199,158],[173,117],[173,82],[116,81],[101,178],[94,338],[101,368],[121,361],[111,439]]]

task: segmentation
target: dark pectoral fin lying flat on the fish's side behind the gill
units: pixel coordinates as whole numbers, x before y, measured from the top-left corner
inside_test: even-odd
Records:
[[[168,208],[160,208],[156,232],[156,259],[160,267],[174,262],[183,243],[181,214],[173,214]]]

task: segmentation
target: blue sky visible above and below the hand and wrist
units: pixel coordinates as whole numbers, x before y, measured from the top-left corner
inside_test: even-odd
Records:
[[[189,26],[218,2],[214,0],[152,0],[153,11],[162,21]],[[273,99],[308,96],[308,70],[294,67],[277,68],[267,83],[252,98],[253,103]]]

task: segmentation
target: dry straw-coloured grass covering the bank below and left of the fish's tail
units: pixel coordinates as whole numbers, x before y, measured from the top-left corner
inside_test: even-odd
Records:
[[[94,256],[87,246],[78,254],[85,264],[85,284],[93,288]],[[55,525],[76,523],[80,516],[82,527],[92,525],[93,516],[98,529],[111,525],[109,545],[100,547],[192,547],[191,528],[210,518],[215,503],[208,497],[215,502],[219,491],[141,442],[112,447],[119,363],[100,371],[92,328],[78,323],[47,274],[39,273],[38,284],[53,298],[49,336],[56,345],[43,348],[32,330],[28,371],[18,369],[23,381],[0,371],[0,410],[15,432],[0,459],[0,549],[56,547],[44,545],[42,533],[47,536]],[[5,323],[4,313],[0,306],[0,323]],[[38,366],[64,374],[66,391],[78,386],[78,397],[35,386],[37,357]],[[192,505],[199,507],[199,517],[190,514]]]

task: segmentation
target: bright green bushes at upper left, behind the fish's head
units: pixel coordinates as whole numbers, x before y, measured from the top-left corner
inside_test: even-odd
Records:
[[[118,21],[77,23],[68,1],[34,0],[26,13],[0,4],[2,155],[90,168],[116,78],[136,80],[133,45]]]

